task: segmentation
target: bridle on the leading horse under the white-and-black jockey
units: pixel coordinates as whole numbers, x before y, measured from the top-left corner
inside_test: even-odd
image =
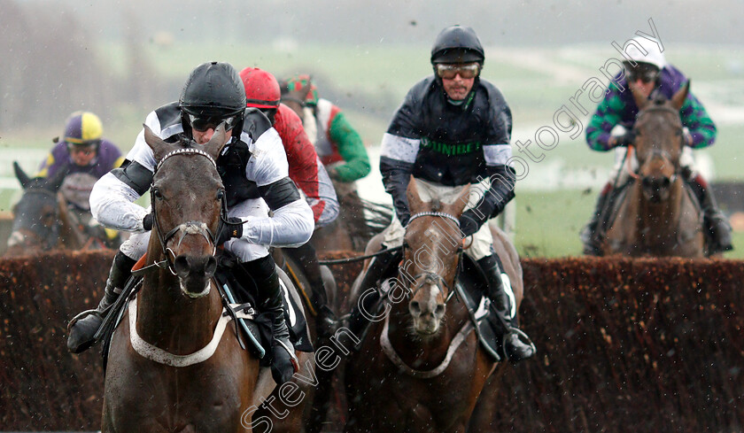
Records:
[[[210,230],[206,224],[202,221],[186,221],[182,222],[181,224],[177,225],[176,227],[172,228],[170,231],[168,231],[165,235],[163,235],[162,230],[160,229],[160,223],[158,220],[158,213],[155,211],[155,193],[156,188],[154,187],[154,178],[155,174],[158,173],[158,170],[161,166],[163,166],[163,163],[166,162],[167,159],[174,157],[175,155],[198,155],[205,157],[206,159],[209,159],[209,162],[212,163],[212,166],[214,169],[217,169],[217,163],[214,161],[214,159],[205,151],[202,151],[200,149],[194,149],[194,148],[183,148],[183,149],[176,149],[175,151],[170,151],[167,153],[163,159],[160,159],[157,166],[155,166],[155,170],[153,171],[153,182],[150,186],[150,202],[151,202],[151,209],[152,209],[152,228],[156,231],[158,234],[158,240],[160,242],[160,248],[163,251],[163,256],[166,258],[165,265],[167,266],[168,270],[171,272],[171,274],[176,274],[174,271],[174,264],[173,260],[175,259],[175,252],[170,248],[167,247],[167,242],[174,237],[177,233],[181,233],[181,237],[178,239],[178,244],[176,244],[176,248],[181,246],[183,239],[188,235],[201,235],[204,236],[206,241],[209,244],[212,244],[212,255],[217,251],[217,238],[215,237],[212,230]],[[224,191],[222,193],[221,197],[221,210],[220,210],[220,225],[217,228],[217,233],[220,232],[220,228],[222,224],[226,221],[226,215],[227,215],[227,199],[225,197]]]

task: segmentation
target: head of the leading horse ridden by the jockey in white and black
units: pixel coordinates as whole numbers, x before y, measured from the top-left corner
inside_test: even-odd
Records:
[[[153,229],[151,248],[160,249],[182,293],[201,298],[217,268],[214,258],[221,226],[225,187],[215,160],[227,143],[224,125],[204,146],[196,142],[170,144],[144,129],[158,166],[152,178]],[[156,240],[157,239],[157,240]]]

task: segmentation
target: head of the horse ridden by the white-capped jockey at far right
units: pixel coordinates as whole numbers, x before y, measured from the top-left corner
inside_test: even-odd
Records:
[[[685,140],[679,109],[689,89],[688,81],[670,100],[663,97],[648,100],[633,91],[639,107],[633,127],[639,177],[644,196],[653,203],[670,196],[670,187],[679,172]]]

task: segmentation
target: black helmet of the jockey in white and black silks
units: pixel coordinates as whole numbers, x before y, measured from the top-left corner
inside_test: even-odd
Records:
[[[192,136],[189,114],[198,117],[237,116],[232,136],[243,131],[245,89],[240,75],[229,63],[210,62],[197,66],[183,85],[178,100],[183,132]]]

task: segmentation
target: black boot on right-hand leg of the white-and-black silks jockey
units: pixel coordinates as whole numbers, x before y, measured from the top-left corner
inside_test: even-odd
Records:
[[[299,362],[290,341],[290,329],[284,321],[282,288],[279,287],[279,274],[276,273],[274,259],[269,254],[261,259],[242,263],[241,266],[256,282],[259,310],[271,316],[271,375],[274,382],[281,385],[299,370]]]

